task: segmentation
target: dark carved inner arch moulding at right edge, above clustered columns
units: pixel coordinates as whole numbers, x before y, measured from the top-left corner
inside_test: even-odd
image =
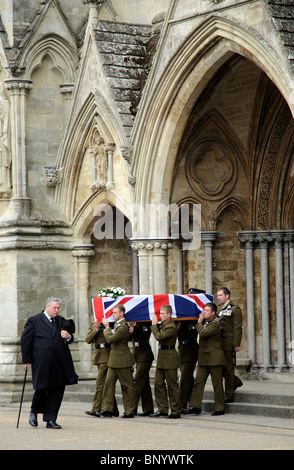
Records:
[[[252,226],[257,230],[281,229],[284,204],[288,202],[293,153],[291,111],[268,79],[261,80],[253,114]],[[287,184],[288,182],[288,184]]]

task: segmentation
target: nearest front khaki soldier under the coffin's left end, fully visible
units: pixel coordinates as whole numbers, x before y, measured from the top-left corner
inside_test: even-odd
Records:
[[[110,354],[107,362],[107,375],[105,379],[102,410],[100,416],[112,417],[114,414],[115,385],[117,379],[120,382],[124,414],[121,418],[133,418],[135,412],[135,393],[132,376],[134,357],[129,349],[129,325],[124,318],[125,307],[121,304],[113,308],[115,320],[114,329],[111,330],[108,321],[103,318],[105,326],[104,336],[110,344]]]

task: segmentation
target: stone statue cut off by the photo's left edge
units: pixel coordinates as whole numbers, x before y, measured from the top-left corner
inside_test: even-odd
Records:
[[[9,102],[0,88],[0,192],[11,189],[11,152],[9,142]]]

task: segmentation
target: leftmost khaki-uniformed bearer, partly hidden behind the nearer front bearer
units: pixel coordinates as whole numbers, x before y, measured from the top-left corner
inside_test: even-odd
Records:
[[[97,365],[98,375],[96,378],[96,391],[93,397],[92,410],[86,411],[85,413],[95,417],[100,416],[99,412],[101,411],[103,387],[107,374],[107,361],[110,352],[110,344],[106,342],[103,330],[103,323],[99,323],[97,320],[95,320],[89,326],[89,330],[86,336],[86,342],[88,344],[94,344],[93,364]],[[114,416],[118,415],[119,412],[115,400]]]

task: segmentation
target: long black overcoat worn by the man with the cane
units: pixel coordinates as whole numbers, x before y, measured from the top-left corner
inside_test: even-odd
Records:
[[[65,326],[64,326],[65,325]],[[68,329],[68,320],[59,315],[53,325],[44,312],[29,317],[21,336],[24,364],[32,364],[34,389],[48,389],[77,383],[78,376],[68,344],[61,337],[61,329]],[[74,323],[72,322],[73,331]],[[63,327],[63,328],[62,328]],[[71,333],[71,331],[70,331]]]

